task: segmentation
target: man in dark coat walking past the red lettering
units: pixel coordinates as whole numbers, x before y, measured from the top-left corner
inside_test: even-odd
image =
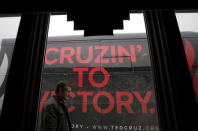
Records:
[[[39,131],[71,131],[71,123],[64,101],[69,99],[71,86],[64,82],[56,85],[55,96],[44,104]]]

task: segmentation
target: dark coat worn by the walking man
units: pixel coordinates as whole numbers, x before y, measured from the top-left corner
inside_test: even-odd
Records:
[[[64,102],[50,97],[40,114],[39,131],[71,131],[71,123]]]

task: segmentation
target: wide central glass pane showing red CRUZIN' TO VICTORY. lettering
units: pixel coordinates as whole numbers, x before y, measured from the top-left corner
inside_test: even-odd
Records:
[[[124,30],[114,30],[113,36],[84,37],[84,31],[72,30],[73,23],[66,18],[51,16],[38,129],[49,122],[43,114],[54,114],[50,103],[52,99],[59,101],[55,88],[63,81],[72,89],[64,104],[73,130],[158,131],[143,14],[130,14],[130,20],[124,21]],[[59,122],[64,119],[61,111],[57,115],[61,117]],[[56,127],[54,123],[50,126]]]

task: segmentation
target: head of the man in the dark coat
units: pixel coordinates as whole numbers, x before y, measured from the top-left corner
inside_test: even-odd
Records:
[[[66,84],[62,81],[57,83],[55,90],[56,95],[62,97],[63,99],[68,99],[70,92],[71,86],[69,84]]]

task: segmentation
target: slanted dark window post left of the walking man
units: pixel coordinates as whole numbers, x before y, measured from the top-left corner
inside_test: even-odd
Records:
[[[49,13],[22,14],[8,72],[0,128],[35,130]]]

